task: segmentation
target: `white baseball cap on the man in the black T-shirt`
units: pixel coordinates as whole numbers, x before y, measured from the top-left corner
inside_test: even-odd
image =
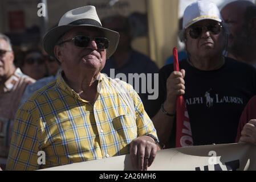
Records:
[[[192,24],[204,19],[212,19],[217,22],[222,22],[220,10],[212,1],[197,1],[186,7],[183,15],[182,27],[188,28]]]

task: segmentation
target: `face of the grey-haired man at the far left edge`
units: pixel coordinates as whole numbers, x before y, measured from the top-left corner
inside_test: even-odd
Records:
[[[0,39],[0,77],[10,76],[14,55],[4,39]]]

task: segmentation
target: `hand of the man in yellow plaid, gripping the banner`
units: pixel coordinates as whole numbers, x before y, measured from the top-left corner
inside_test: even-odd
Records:
[[[132,167],[138,171],[147,171],[156,157],[157,145],[152,137],[138,137],[131,142],[130,154]]]

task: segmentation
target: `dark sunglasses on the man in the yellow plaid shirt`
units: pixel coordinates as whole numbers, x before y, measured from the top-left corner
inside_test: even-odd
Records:
[[[98,49],[107,49],[109,46],[109,40],[107,38],[102,38],[102,37],[90,38],[85,35],[78,35],[72,39],[64,40],[63,42],[60,42],[58,45],[60,46],[61,44],[70,42],[72,40],[74,40],[74,45],[77,47],[88,47],[92,40],[95,41]]]

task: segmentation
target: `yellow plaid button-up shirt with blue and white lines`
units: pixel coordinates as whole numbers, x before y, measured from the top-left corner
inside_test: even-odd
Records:
[[[140,97],[131,85],[123,85],[133,98],[136,121],[104,74],[100,74],[93,104],[82,100],[62,74],[36,91],[17,112],[7,170],[34,170],[124,155],[133,139],[145,134],[157,138]],[[38,164],[39,151],[45,152],[46,164]]]

